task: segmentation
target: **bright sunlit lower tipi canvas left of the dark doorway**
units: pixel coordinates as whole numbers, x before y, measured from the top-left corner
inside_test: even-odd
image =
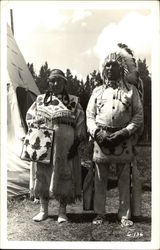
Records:
[[[7,93],[7,191],[9,196],[28,192],[29,163],[20,159],[25,129],[22,126],[16,92]]]

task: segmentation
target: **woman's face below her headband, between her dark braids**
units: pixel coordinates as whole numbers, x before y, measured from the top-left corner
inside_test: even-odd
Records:
[[[49,80],[49,88],[54,94],[60,94],[63,92],[65,86],[65,80],[60,77],[55,77]]]

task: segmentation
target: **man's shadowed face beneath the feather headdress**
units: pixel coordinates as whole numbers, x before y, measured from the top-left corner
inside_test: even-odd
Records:
[[[120,67],[117,62],[108,62],[104,68],[104,76],[111,81],[118,80],[120,77]]]

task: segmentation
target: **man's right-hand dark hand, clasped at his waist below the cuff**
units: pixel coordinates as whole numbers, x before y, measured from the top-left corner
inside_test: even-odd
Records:
[[[129,138],[129,132],[126,128],[116,131],[115,133],[110,135],[110,140],[115,146],[128,138]]]

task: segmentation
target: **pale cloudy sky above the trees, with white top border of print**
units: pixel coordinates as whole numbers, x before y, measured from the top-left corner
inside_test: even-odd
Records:
[[[85,79],[101,70],[114,44],[127,44],[136,59],[146,59],[151,72],[156,1],[4,1],[10,25],[13,10],[14,36],[36,73],[47,61]]]

